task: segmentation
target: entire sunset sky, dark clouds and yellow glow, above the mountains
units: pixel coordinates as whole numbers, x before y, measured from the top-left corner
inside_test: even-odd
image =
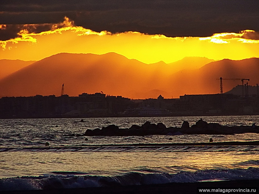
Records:
[[[145,63],[259,57],[256,1],[0,3],[0,59],[116,52]]]

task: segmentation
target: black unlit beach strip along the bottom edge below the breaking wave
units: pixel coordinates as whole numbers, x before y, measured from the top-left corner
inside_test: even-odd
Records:
[[[211,181],[197,183],[167,183],[156,185],[133,185],[133,186],[115,186],[115,187],[92,187],[92,188],[77,188],[77,189],[52,189],[52,190],[31,190],[31,191],[6,191],[0,193],[8,194],[95,194],[95,193],[111,193],[111,194],[151,194],[151,193],[198,193],[198,187],[214,187],[214,188],[256,188],[258,193],[259,180],[240,180],[240,181]]]

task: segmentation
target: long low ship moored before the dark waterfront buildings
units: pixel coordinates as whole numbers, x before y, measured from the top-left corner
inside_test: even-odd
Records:
[[[166,109],[157,108],[134,108],[125,110],[125,116],[170,116],[172,113]]]

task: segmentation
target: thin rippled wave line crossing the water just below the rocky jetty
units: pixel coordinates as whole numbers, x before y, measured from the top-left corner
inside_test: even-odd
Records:
[[[0,152],[251,152],[259,146],[60,146],[0,148]]]

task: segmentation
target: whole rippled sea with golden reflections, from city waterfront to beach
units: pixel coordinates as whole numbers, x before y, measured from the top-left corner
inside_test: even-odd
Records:
[[[80,122],[84,119],[84,122]],[[115,124],[166,127],[200,117],[0,119],[0,191],[259,179],[259,146],[159,146],[258,141],[259,134],[76,136]],[[202,116],[223,126],[259,126],[259,116]],[[75,134],[75,136],[71,136]],[[169,140],[169,138],[172,140]],[[48,142],[49,146],[45,143]],[[146,146],[132,144],[147,144]]]

